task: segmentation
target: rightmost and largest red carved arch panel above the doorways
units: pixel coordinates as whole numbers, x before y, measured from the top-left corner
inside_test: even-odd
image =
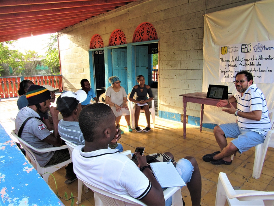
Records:
[[[132,42],[144,42],[158,39],[156,29],[149,22],[143,22],[135,29]]]

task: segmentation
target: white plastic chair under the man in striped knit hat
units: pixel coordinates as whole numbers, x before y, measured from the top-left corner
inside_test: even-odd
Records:
[[[37,170],[37,172],[39,174],[44,174],[46,172],[48,173],[54,173],[55,171],[59,170],[60,168],[62,168],[63,166],[69,164],[72,162],[72,152],[69,150],[70,152],[70,159],[69,160],[66,160],[65,162],[61,162],[59,164],[54,164],[54,165],[46,165],[44,167],[41,167],[39,165],[39,163],[37,162],[36,160],[36,157],[35,155],[33,154],[33,152],[31,151],[34,150],[34,151],[37,151],[37,152],[40,152],[40,153],[45,153],[45,152],[50,152],[50,151],[57,151],[57,150],[61,150],[61,149],[67,149],[68,146],[67,145],[62,145],[61,147],[50,147],[50,148],[44,148],[44,149],[37,149],[33,146],[31,146],[30,144],[26,143],[24,140],[22,140],[20,137],[18,137],[14,130],[11,132],[11,134],[18,139],[18,141],[20,142],[21,146],[25,149],[26,151],[26,154],[29,156],[29,158],[31,159],[31,164],[33,165],[33,167]],[[50,174],[44,174],[42,175],[43,179],[45,180],[45,182],[47,183],[48,182],[48,177],[50,176]]]

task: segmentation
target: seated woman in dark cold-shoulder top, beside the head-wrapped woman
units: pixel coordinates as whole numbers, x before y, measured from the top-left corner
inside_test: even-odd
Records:
[[[138,75],[136,77],[138,85],[135,85],[132,88],[130,93],[129,100],[134,102],[133,108],[135,109],[134,118],[135,118],[135,131],[136,132],[149,132],[150,128],[150,114],[149,108],[151,107],[151,100],[153,100],[152,91],[149,85],[145,85],[145,80],[143,75]],[[149,98],[147,98],[147,94],[149,94]],[[143,130],[138,126],[140,110],[144,110],[144,114],[147,119],[147,127]]]

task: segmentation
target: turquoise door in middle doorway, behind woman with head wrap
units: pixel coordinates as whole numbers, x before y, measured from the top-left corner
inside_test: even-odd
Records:
[[[127,93],[127,49],[112,49],[112,74],[119,77]]]

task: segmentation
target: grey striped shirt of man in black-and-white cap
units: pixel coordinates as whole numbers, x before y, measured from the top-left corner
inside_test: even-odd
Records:
[[[85,140],[80,130],[78,121],[64,121],[61,119],[58,123],[58,132],[60,136],[76,145],[84,145]]]

